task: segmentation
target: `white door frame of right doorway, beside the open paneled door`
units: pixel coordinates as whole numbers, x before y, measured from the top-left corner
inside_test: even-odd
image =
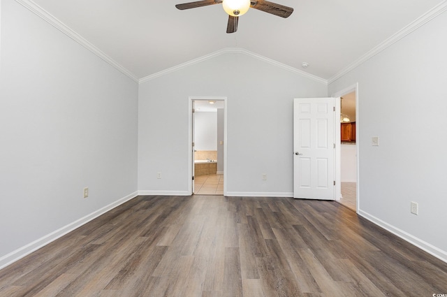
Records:
[[[360,138],[359,138],[359,131],[361,129],[360,127],[360,117],[358,113],[358,82],[356,82],[354,85],[351,85],[349,87],[346,87],[344,89],[341,89],[337,92],[333,93],[333,97],[342,97],[346,94],[349,94],[351,92],[356,92],[356,170],[357,170],[357,182],[356,182],[356,212],[358,213],[358,210],[360,210],[360,195],[359,195],[359,189],[360,189],[360,162],[359,162],[359,147],[360,147]],[[335,108],[337,112],[337,107]],[[338,103],[338,115],[340,114],[340,103]],[[337,159],[336,159],[336,184],[337,187],[337,200],[340,200],[340,197],[342,196],[342,164],[341,164],[341,149],[342,149],[342,136],[340,135],[340,131],[338,131],[338,137],[337,137],[337,143],[335,143],[335,150],[337,151]]]

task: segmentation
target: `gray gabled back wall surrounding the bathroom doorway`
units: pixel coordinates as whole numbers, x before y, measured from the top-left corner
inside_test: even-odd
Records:
[[[189,96],[227,97],[227,191],[291,196],[293,98],[327,85],[242,53],[226,53],[140,84],[138,189],[186,194]],[[162,172],[162,178],[156,178]],[[268,180],[262,180],[262,174]]]

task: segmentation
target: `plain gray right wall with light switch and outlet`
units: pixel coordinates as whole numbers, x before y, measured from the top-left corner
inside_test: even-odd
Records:
[[[358,82],[360,214],[447,261],[447,13],[332,82]],[[379,147],[371,138],[379,136]],[[410,213],[419,203],[419,215]]]

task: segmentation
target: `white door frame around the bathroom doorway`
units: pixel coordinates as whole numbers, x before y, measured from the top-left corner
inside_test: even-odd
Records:
[[[223,196],[226,196],[227,181],[227,97],[221,96],[189,96],[188,97],[188,192],[193,194],[193,101],[223,101]]]

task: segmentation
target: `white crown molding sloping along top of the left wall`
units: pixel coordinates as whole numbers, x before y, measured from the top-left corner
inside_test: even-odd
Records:
[[[66,24],[58,20],[56,17],[54,17],[52,14],[48,13],[46,10],[41,8],[41,6],[38,6],[36,3],[34,3],[31,0],[15,0],[17,3],[20,3],[22,6],[27,8],[28,10],[31,10],[31,12],[35,13],[39,17],[41,17],[46,22],[50,23],[53,27],[56,29],[59,29],[62,33],[66,34],[66,36],[72,38],[74,41],[80,43],[80,45],[87,48],[87,50],[90,50],[93,52],[96,56],[100,57],[104,61],[106,61],[108,64],[112,65],[113,67],[117,68],[120,72],[122,72],[124,75],[131,78],[133,81],[138,82],[138,78],[131,73],[131,71],[127,70],[120,64],[118,64],[115,60],[108,57],[108,55],[105,55],[104,52],[101,52],[96,46],[92,45],[87,41],[85,38],[80,36],[78,33],[70,29]]]

